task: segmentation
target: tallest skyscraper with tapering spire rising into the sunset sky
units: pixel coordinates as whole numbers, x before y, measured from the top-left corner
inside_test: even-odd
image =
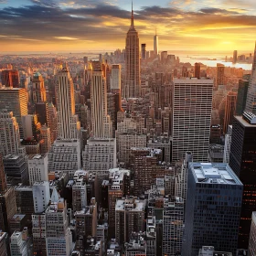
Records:
[[[123,90],[124,98],[136,98],[141,93],[141,75],[140,75],[140,44],[139,35],[134,27],[133,6],[131,27],[126,35],[125,44],[125,85]]]

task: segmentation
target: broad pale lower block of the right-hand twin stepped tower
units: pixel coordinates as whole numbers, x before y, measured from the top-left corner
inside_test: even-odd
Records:
[[[82,152],[82,163],[85,170],[95,171],[100,178],[108,178],[109,169],[117,165],[115,139],[90,138]]]

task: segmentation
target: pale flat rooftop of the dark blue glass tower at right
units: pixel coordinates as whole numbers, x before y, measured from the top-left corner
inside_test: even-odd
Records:
[[[240,179],[228,164],[224,163],[190,163],[196,183],[241,185]]]

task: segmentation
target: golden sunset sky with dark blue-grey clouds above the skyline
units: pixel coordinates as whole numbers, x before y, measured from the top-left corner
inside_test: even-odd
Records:
[[[0,0],[0,54],[125,47],[131,0]],[[159,50],[253,52],[255,0],[133,0],[140,43]]]

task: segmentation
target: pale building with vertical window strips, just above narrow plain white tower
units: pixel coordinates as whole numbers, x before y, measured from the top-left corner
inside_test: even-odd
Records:
[[[48,181],[48,155],[29,155],[27,159],[29,184]]]

